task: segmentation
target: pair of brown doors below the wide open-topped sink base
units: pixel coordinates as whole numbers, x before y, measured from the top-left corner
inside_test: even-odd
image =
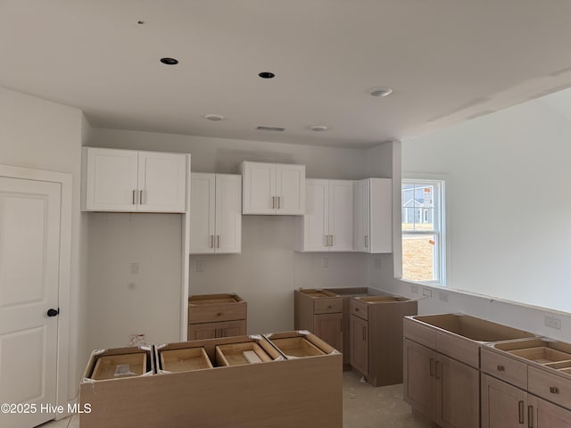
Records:
[[[478,428],[480,372],[404,340],[404,399],[443,428]]]

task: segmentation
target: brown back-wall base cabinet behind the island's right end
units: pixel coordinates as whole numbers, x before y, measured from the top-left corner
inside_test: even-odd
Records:
[[[308,330],[343,352],[343,299],[325,290],[295,290],[294,328]]]

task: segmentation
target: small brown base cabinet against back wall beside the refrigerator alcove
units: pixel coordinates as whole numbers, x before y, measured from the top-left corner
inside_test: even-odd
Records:
[[[188,298],[188,340],[240,336],[246,333],[246,302],[236,294],[203,294]]]

